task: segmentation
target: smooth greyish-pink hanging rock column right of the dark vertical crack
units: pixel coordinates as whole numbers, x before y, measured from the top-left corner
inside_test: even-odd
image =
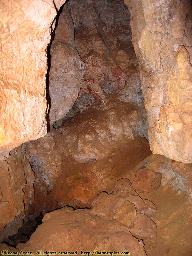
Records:
[[[66,4],[59,15],[50,53],[49,121],[52,125],[73,106],[80,91],[85,66],[75,48],[73,20]]]

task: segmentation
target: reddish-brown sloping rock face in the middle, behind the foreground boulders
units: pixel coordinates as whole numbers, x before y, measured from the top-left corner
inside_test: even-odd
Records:
[[[27,143],[36,175],[34,212],[91,205],[98,193],[110,192],[126,170],[150,154],[147,140],[136,133],[137,110],[117,95],[108,103],[108,109],[89,110]]]

